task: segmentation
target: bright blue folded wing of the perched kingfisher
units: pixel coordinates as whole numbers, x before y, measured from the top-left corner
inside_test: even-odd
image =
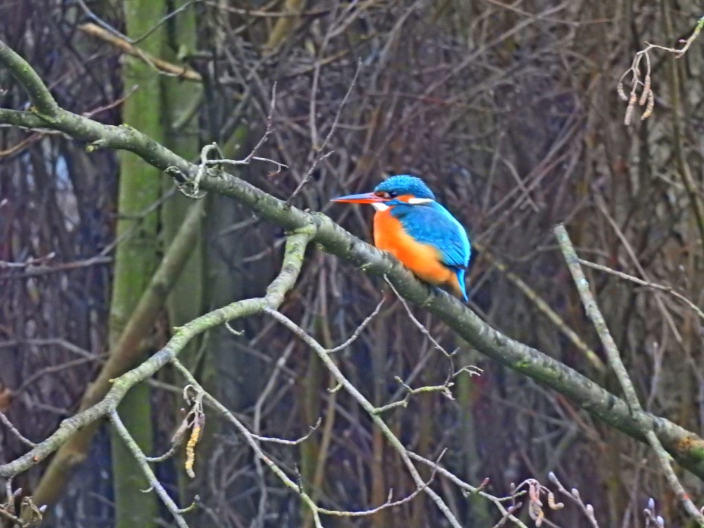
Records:
[[[444,264],[467,268],[472,247],[465,228],[437,202],[396,206],[391,214],[401,220],[403,229],[423,244],[438,249]]]

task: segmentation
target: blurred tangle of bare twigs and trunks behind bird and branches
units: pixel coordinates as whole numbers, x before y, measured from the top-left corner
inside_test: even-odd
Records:
[[[273,132],[258,155],[288,168],[256,163],[238,175],[282,199],[305,182],[296,206],[325,212],[364,239],[371,210],[332,205],[329,198],[370,190],[390,172],[422,175],[479,247],[470,274],[472,308],[510,337],[617,391],[600,367],[596,334],[551,230],[564,221],[583,258],[670,285],[702,305],[700,43],[677,60],[653,51],[655,115],[648,120],[636,115],[624,126],[625,103],[615,86],[644,42],[676,44],[703,9],[691,0],[5,0],[0,37],[37,69],[64,108],[140,130],[149,122],[145,131],[192,159],[212,142],[227,157],[244,157],[265,130],[275,87]],[[176,72],[186,68],[193,79],[127,56],[96,33],[137,46]],[[2,70],[0,104],[27,104]],[[120,325],[114,312],[109,317],[120,245],[133,244],[151,226],[142,247],[158,258],[188,206],[170,182],[157,180],[161,191],[148,208],[123,208],[120,177],[146,170],[129,158],[86,153],[61,134],[0,127],[0,395],[11,396],[0,399],[0,410],[34,441],[75,413],[106,359],[108,333]],[[206,200],[201,242],[144,336],[145,351],[204,310],[262,294],[277,272],[281,230],[230,199]],[[134,226],[127,234],[120,233],[122,221]],[[702,434],[696,313],[603,272],[590,272],[590,279],[644,405]],[[122,287],[139,294],[140,280]],[[396,375],[417,386],[439,384],[447,374],[444,358],[385,284],[313,250],[282,307],[334,346],[382,297],[377,318],[337,356],[377,405],[401,394]],[[541,301],[582,346],[546,316]],[[458,377],[454,401],[417,396],[386,415],[409,448],[434,458],[449,447],[444,465],[473,484],[489,477],[493,494],[527,477],[546,483],[546,472],[554,471],[582,491],[604,527],[643,526],[648,496],[679,523],[644,446],[483,360],[422,310],[415,313],[484,374]],[[294,438],[322,417],[300,446],[268,446],[320,503],[359,510],[383,503],[389,488],[398,497],[413,491],[369,417],[346,394],[328,391],[331,380],[306,346],[260,318],[236,329],[244,333],[210,332],[185,361],[255,432]],[[161,372],[142,391],[142,404],[121,413],[151,422],[153,449],[161,453],[180,421],[180,379]],[[203,507],[189,517],[195,526],[310,526],[298,499],[258,472],[230,427],[213,418],[206,433],[194,481],[182,475],[180,458],[158,466],[181,503],[200,496]],[[0,428],[0,449],[6,462],[24,447]],[[125,463],[101,430],[87,463],[55,490],[61,498],[46,526],[124,520],[113,477]],[[45,467],[15,485],[31,494]],[[693,477],[681,477],[693,493],[703,491]],[[479,498],[447,482],[433,485],[467,526],[498,520]],[[170,522],[160,515],[141,525]],[[587,526],[575,508],[552,515],[562,526]],[[326,526],[444,524],[418,496],[373,517],[329,519]]]

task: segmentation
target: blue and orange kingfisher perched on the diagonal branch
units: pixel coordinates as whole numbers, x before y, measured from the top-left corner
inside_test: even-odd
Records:
[[[389,251],[418,278],[447,286],[467,301],[465,271],[472,252],[470,239],[419,177],[391,176],[372,192],[332,201],[372,204],[376,210],[374,245]]]

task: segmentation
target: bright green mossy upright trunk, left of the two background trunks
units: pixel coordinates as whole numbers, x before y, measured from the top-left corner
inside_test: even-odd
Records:
[[[141,37],[165,14],[159,0],[125,2],[125,23],[130,37]],[[161,55],[163,31],[153,32],[140,47],[153,56]],[[125,100],[122,120],[127,125],[163,142],[161,121],[161,80],[146,63],[125,57],[125,89],[137,84],[137,90]],[[115,276],[111,302],[109,341],[111,348],[122,334],[125,322],[139,301],[158,263],[158,213],[144,215],[161,196],[159,170],[131,153],[120,160],[117,237],[125,237],[115,251]],[[135,386],[120,404],[118,412],[142,450],[151,453],[153,427],[149,387]],[[111,431],[113,487],[115,493],[115,527],[156,526],[156,496],[144,493],[149,488],[136,460],[122,439]]]

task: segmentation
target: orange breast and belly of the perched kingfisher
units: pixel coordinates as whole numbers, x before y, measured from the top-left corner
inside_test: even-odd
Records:
[[[389,251],[425,282],[448,284],[455,293],[462,294],[455,271],[442,263],[439,251],[406,233],[401,222],[391,215],[390,208],[374,215],[374,245]]]

